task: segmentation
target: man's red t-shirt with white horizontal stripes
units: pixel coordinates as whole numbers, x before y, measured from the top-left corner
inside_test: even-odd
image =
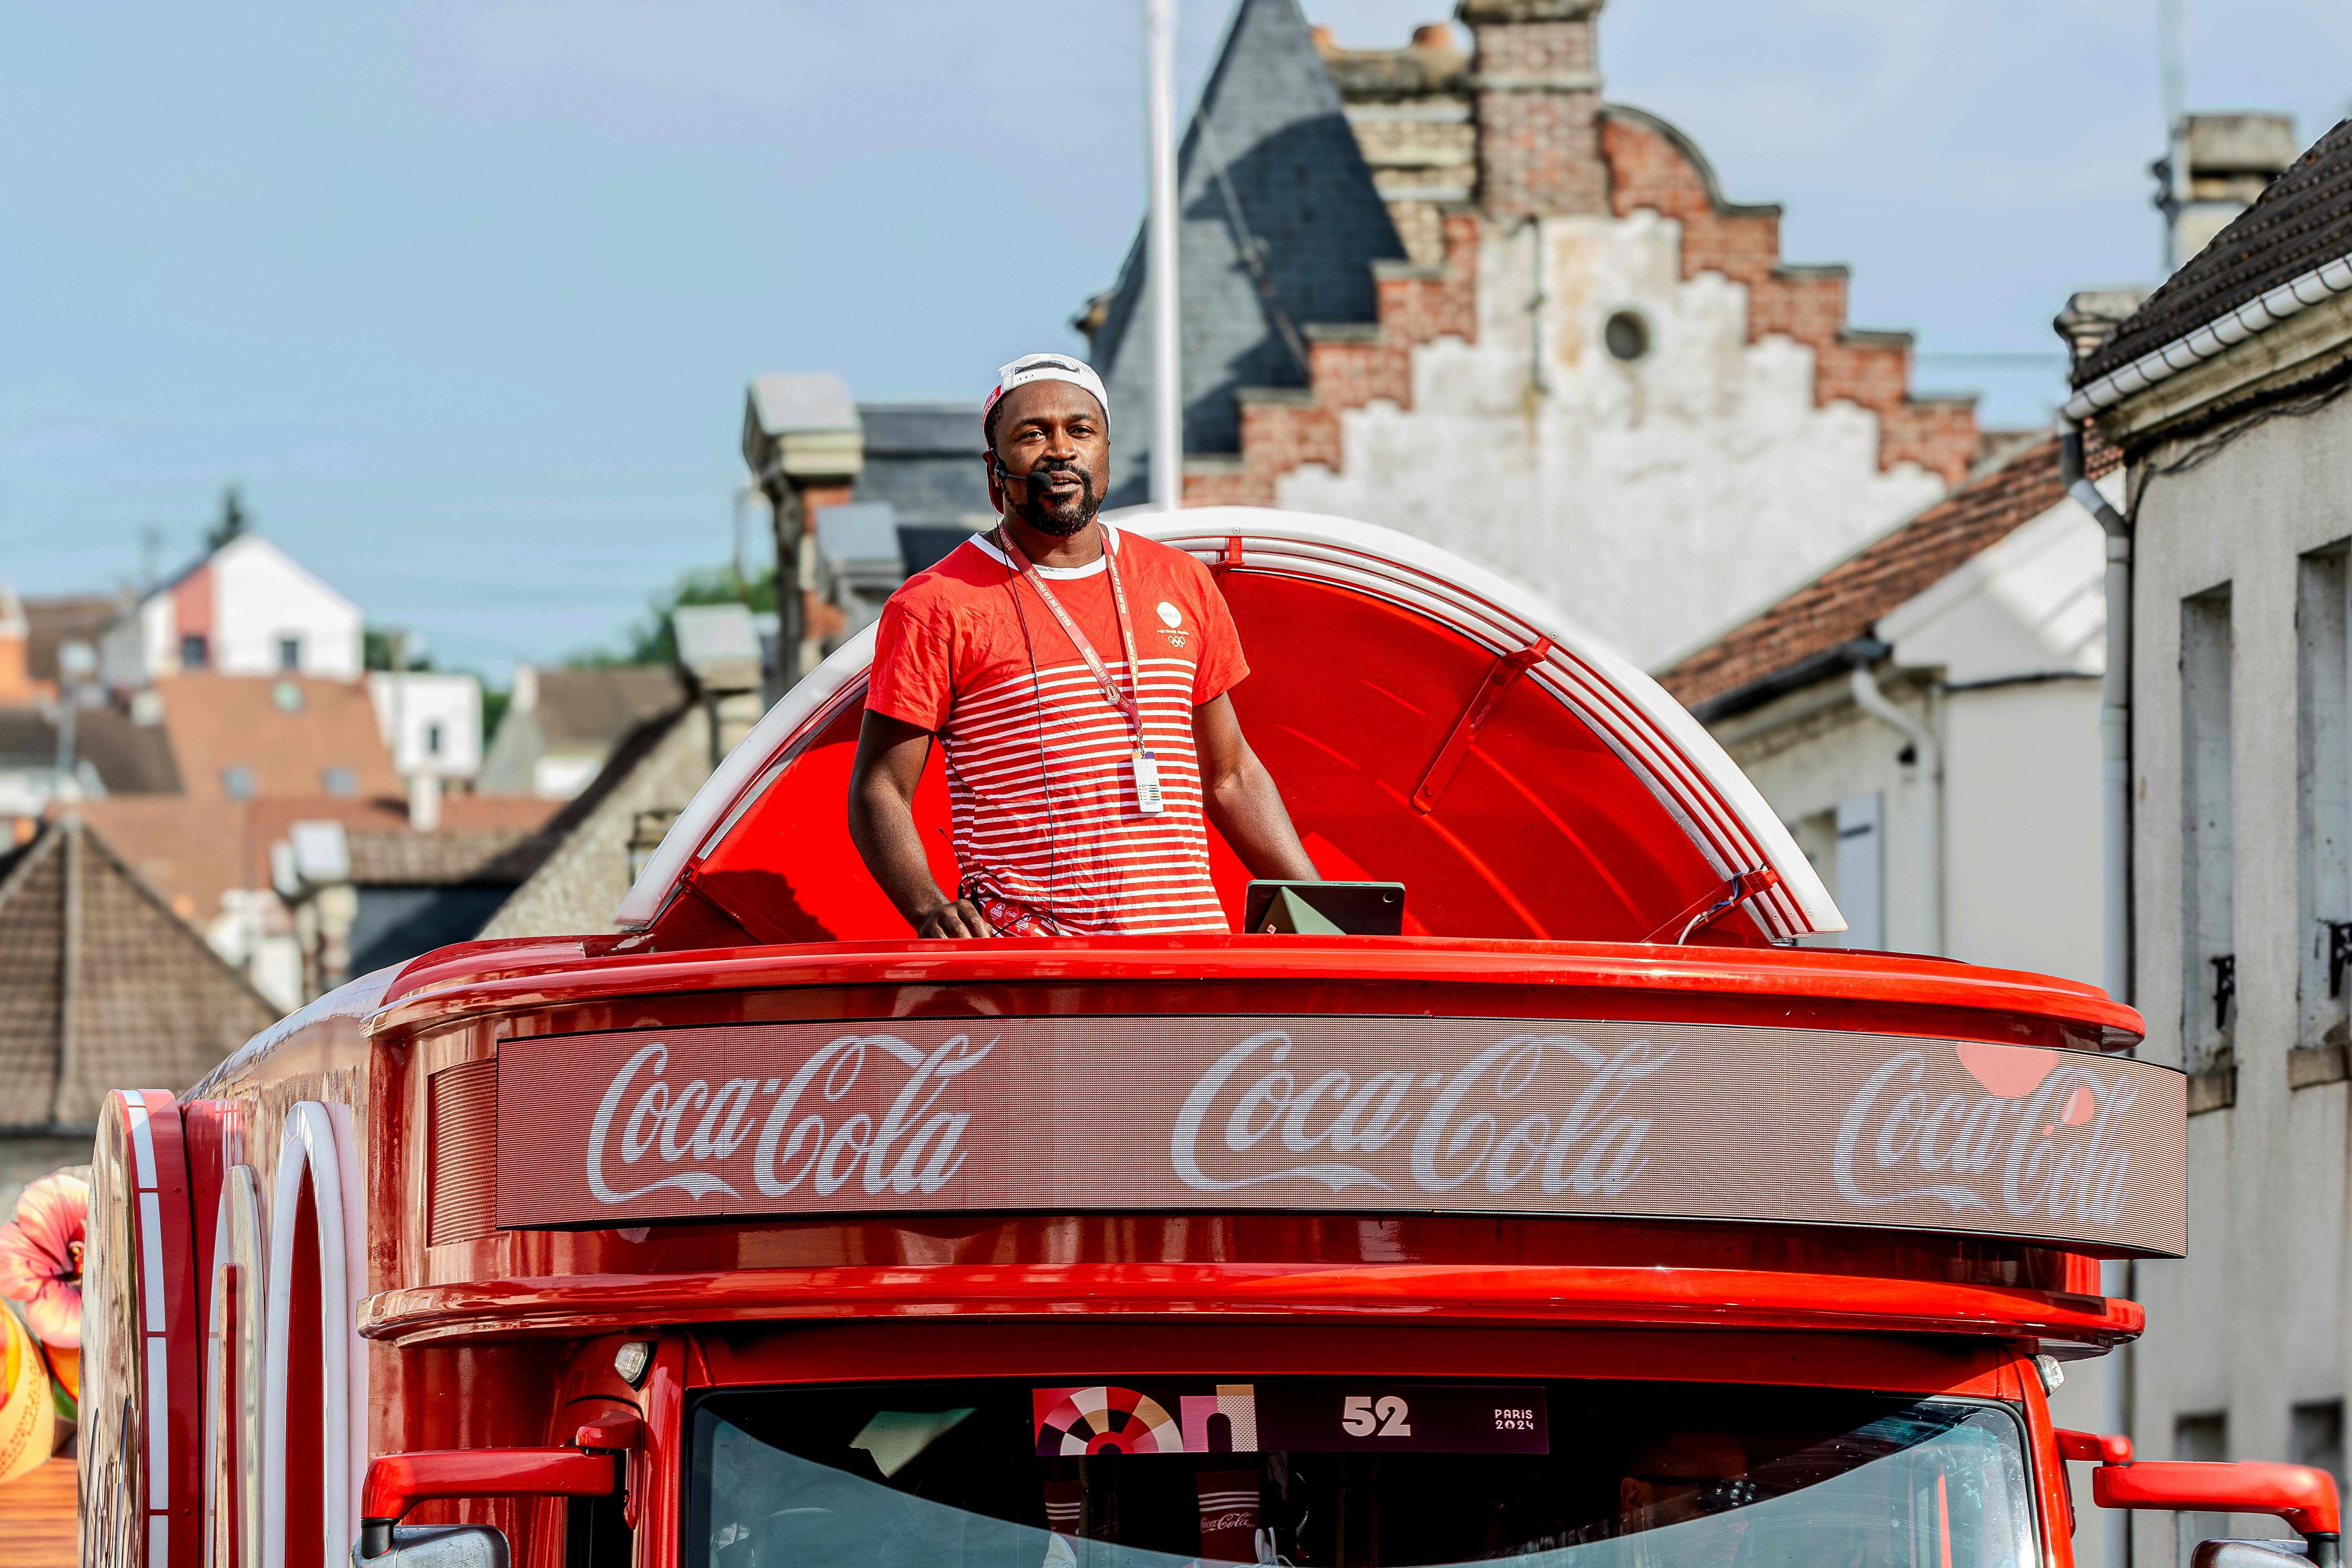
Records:
[[[1249,675],[1209,569],[1101,524],[1134,616],[1136,698],[1164,809],[1145,816],[1134,733],[1077,644],[985,536],[908,578],[875,630],[866,705],[938,733],[962,896],[997,931],[1228,931],[1209,884],[1192,710]],[[1120,691],[1127,646],[1103,562],[1037,567]]]

